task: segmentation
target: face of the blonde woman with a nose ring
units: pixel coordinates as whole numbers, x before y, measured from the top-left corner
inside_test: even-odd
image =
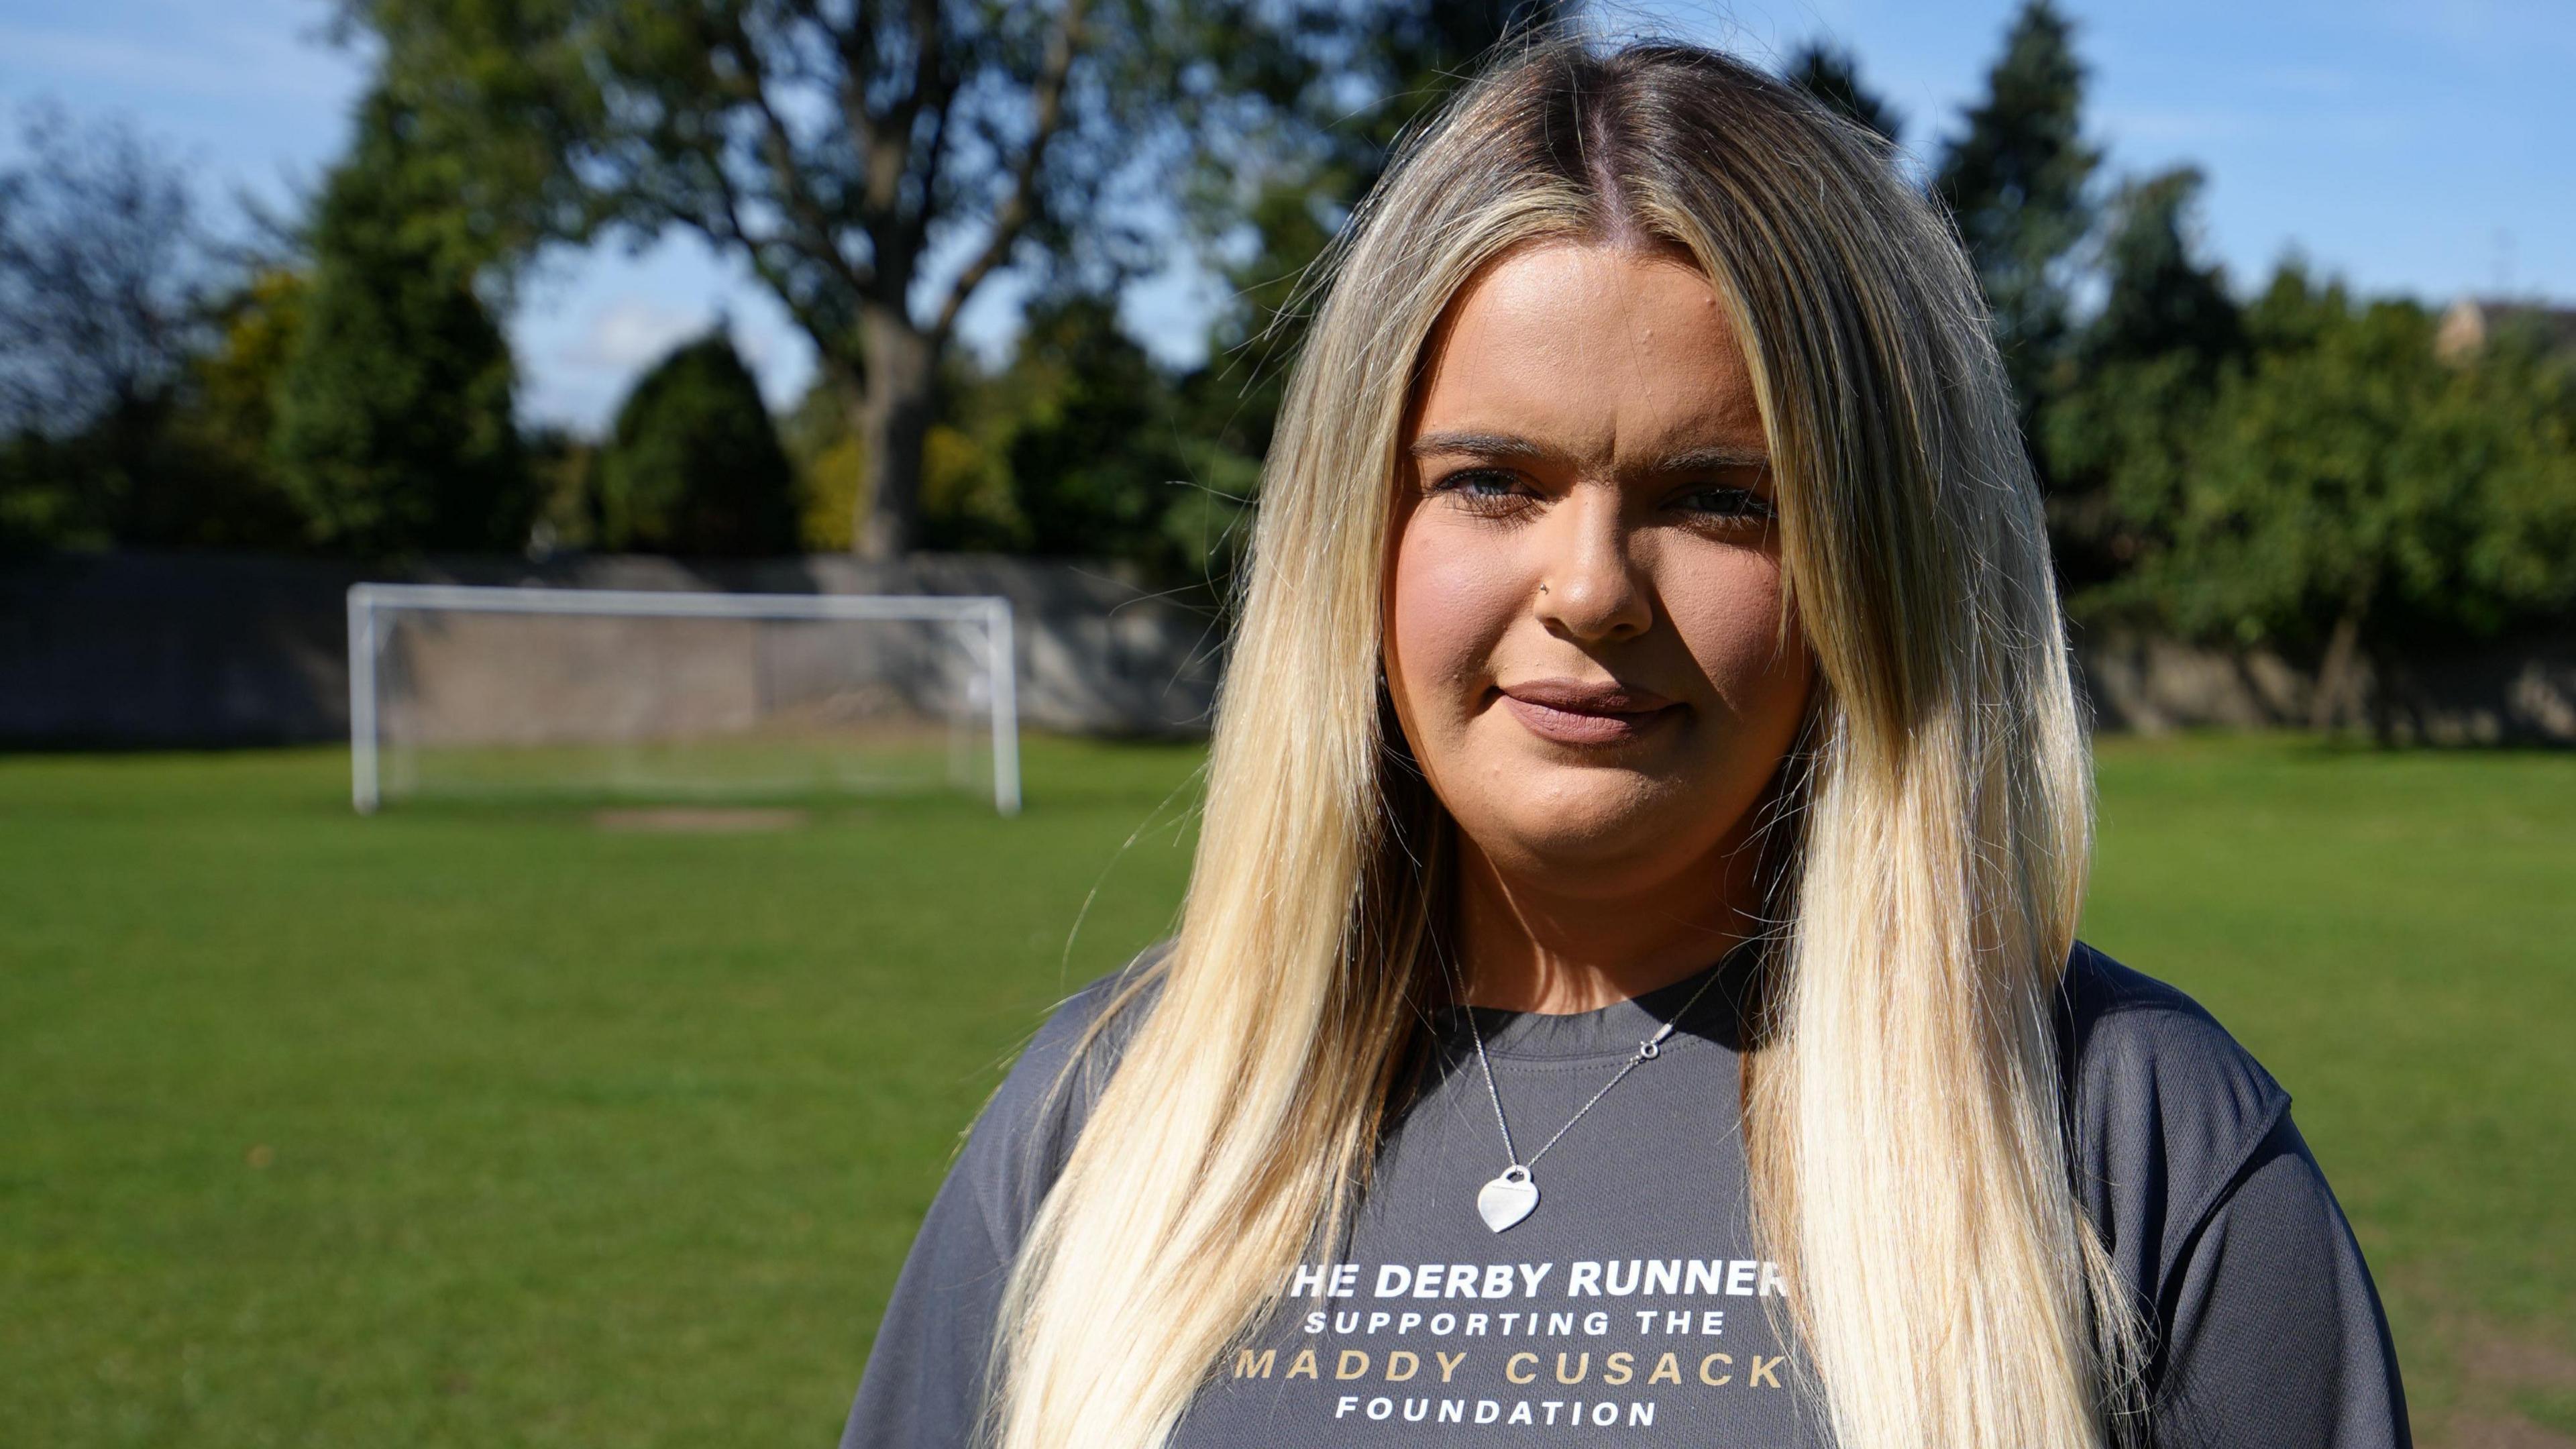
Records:
[[[1703,869],[1788,753],[1752,376],[1667,253],[1515,250],[1432,335],[1404,428],[1386,678],[1432,792],[1504,874],[1628,895]]]

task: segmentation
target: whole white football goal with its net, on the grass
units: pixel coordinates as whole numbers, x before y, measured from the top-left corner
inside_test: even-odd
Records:
[[[1020,810],[1010,601],[361,583],[350,797]]]

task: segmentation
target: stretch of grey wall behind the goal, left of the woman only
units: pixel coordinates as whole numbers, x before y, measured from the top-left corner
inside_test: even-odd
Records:
[[[229,748],[348,737],[348,588],[477,583],[729,593],[997,593],[1020,717],[1079,735],[1206,732],[1218,639],[1103,567],[979,554],[871,565],[448,557],[404,567],[242,554],[0,565],[0,748]]]

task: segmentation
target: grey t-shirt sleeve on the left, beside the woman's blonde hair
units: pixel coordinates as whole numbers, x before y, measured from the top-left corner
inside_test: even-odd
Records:
[[[974,1439],[1010,1266],[1133,1013],[1079,1062],[1074,1049],[1123,980],[1151,959],[1154,949],[1074,993],[984,1104],[894,1279],[840,1449],[963,1449]]]

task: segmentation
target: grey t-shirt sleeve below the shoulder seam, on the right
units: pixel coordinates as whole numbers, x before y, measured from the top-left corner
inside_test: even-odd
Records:
[[[2326,1176],[2282,1114],[2166,1279],[2159,1449],[2401,1449],[2388,1318]]]

